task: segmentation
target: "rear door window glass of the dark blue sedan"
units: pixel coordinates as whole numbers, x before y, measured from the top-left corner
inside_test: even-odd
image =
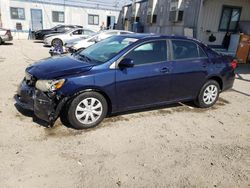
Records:
[[[198,58],[197,44],[187,40],[172,40],[174,59]]]

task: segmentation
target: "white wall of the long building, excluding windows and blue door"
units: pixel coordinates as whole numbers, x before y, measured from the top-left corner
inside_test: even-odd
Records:
[[[25,9],[25,20],[11,19],[10,7],[18,7]],[[12,30],[14,38],[28,38],[28,30],[31,25],[31,9],[41,9],[43,16],[43,29],[54,27],[58,24],[74,24],[81,25],[98,31],[104,22],[107,25],[107,16],[115,16],[116,20],[119,11],[107,9],[94,9],[86,7],[64,6],[60,4],[45,4],[34,2],[23,2],[18,0],[0,0],[0,12],[2,17],[2,27]],[[64,12],[64,23],[52,22],[52,11]],[[99,15],[99,25],[88,24],[88,14]],[[23,31],[15,32],[16,23],[22,24]]]

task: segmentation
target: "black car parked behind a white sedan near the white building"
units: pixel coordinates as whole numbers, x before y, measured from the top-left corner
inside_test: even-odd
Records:
[[[45,35],[49,35],[49,34],[56,34],[56,33],[64,33],[70,29],[74,29],[74,28],[82,28],[82,26],[79,25],[57,25],[51,29],[42,29],[42,30],[38,30],[35,31],[35,39],[36,40],[43,40]]]

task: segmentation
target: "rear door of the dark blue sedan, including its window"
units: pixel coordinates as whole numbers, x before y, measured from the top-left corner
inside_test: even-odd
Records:
[[[193,99],[207,76],[209,60],[191,40],[171,40],[171,100]]]

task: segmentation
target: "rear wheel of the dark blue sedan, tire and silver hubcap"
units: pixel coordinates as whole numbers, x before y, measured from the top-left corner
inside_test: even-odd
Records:
[[[220,86],[215,80],[208,80],[201,88],[195,104],[200,108],[213,106],[219,98]]]

